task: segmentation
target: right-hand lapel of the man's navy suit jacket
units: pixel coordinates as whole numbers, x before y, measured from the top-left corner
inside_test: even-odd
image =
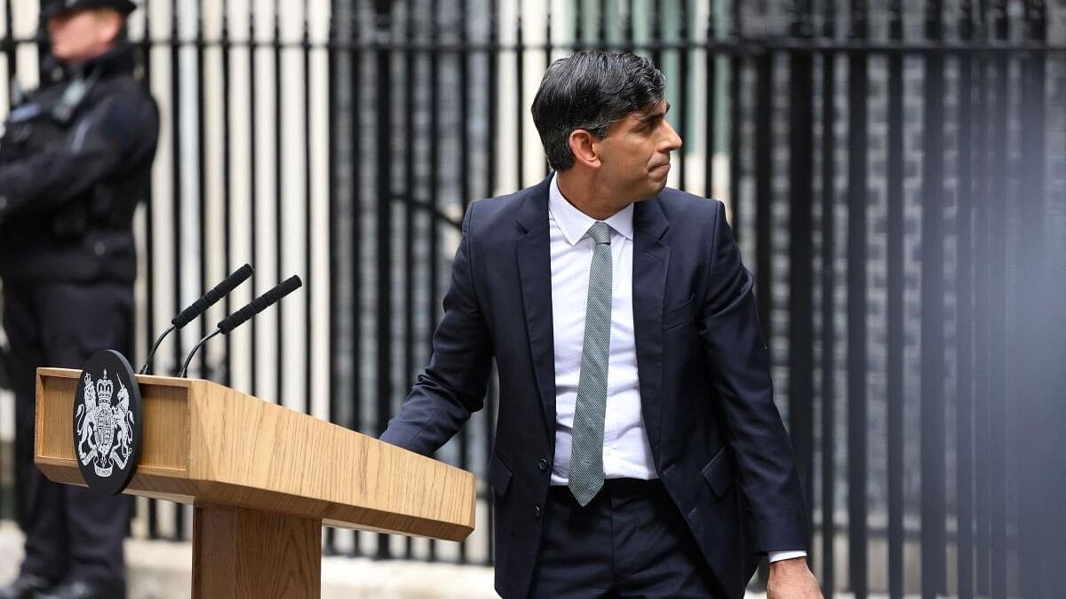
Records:
[[[668,222],[659,198],[633,207],[633,336],[641,410],[651,452],[659,463],[662,439],[663,304],[669,246],[662,242]]]

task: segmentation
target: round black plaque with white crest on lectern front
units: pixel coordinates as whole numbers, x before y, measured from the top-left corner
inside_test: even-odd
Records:
[[[88,488],[123,492],[141,459],[144,414],[133,369],[103,350],[85,362],[74,396],[74,454]]]

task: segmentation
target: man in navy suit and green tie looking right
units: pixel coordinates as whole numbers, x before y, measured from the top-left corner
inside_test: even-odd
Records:
[[[431,454],[500,379],[504,597],[820,597],[753,281],[721,203],[666,189],[681,140],[647,59],[556,61],[555,174],[470,206],[433,357],[382,439]]]

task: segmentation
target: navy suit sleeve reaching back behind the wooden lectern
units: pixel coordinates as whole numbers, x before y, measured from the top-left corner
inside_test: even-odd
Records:
[[[433,334],[430,363],[381,436],[423,455],[448,442],[485,404],[492,343],[474,290],[470,242],[474,206],[463,218],[463,239],[445,295],[445,315]]]

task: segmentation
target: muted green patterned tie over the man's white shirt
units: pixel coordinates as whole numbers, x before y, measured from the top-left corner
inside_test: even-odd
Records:
[[[611,227],[597,222],[588,229],[596,241],[588,269],[585,341],[581,351],[578,401],[574,407],[570,447],[570,492],[581,506],[603,486],[603,414],[611,352]]]

